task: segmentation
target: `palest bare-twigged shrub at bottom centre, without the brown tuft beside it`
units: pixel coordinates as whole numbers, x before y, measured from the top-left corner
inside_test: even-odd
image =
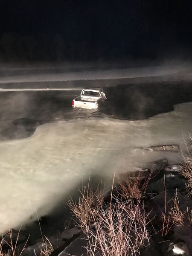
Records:
[[[111,209],[102,210],[98,222],[94,223],[96,233],[90,230],[95,239],[94,248],[100,248],[104,256],[135,255],[148,240],[144,207],[132,200],[122,202],[116,198]],[[149,241],[149,240],[148,240]],[[88,244],[90,255],[93,246]]]

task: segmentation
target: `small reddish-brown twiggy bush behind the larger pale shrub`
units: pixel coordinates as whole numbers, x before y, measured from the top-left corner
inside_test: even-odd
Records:
[[[148,182],[151,179],[151,172],[143,179],[142,172],[136,175],[134,172],[130,177],[129,173],[121,174],[118,177],[117,191],[122,198],[125,199],[137,199],[140,201],[144,196],[148,186]]]

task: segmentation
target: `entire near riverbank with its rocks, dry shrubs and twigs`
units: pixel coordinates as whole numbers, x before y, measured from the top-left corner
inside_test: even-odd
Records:
[[[91,188],[84,187],[79,202],[70,201],[69,206],[77,217],[78,225],[51,237],[44,237],[42,233],[42,238],[37,241],[30,240],[26,230],[19,232],[11,230],[2,238],[0,255],[4,255],[4,250],[8,253],[9,245],[14,247],[14,250],[16,247],[15,254],[12,253],[14,256],[68,254],[79,256],[82,253],[86,255],[87,250],[89,253],[93,250],[89,244],[87,249],[82,247],[86,246],[87,241],[95,242],[97,250],[102,250],[101,245],[105,239],[111,239],[108,231],[104,236],[103,227],[105,230],[113,228],[113,239],[122,235],[122,241],[118,241],[115,245],[116,249],[113,250],[117,250],[117,246],[122,248],[126,245],[128,254],[137,255],[140,252],[141,255],[154,253],[169,255],[167,254],[169,250],[173,250],[174,253],[177,248],[180,252],[184,251],[183,255],[191,255],[192,156],[190,151],[186,151],[183,161],[179,164],[169,165],[166,159],[160,159],[152,163],[151,169],[140,169],[140,172],[136,172],[135,169],[132,175],[130,172],[116,175],[112,192],[109,192],[108,196],[101,196],[103,190],[98,189],[95,197]],[[110,218],[112,222],[108,221]],[[41,218],[41,221],[46,221],[46,218]],[[40,229],[41,221],[38,223]],[[139,223],[139,226],[136,223]],[[108,242],[112,244],[113,241],[108,240]],[[106,250],[108,250],[107,255],[111,255],[112,248],[106,247]],[[94,253],[92,252],[92,255]]]

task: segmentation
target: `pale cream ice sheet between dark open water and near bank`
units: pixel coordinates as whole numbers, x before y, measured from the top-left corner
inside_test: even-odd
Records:
[[[0,231],[44,215],[79,180],[97,174],[110,182],[135,162],[177,153],[144,151],[143,145],[183,144],[192,132],[192,102],[140,121],[72,119],[41,125],[32,137],[0,143]]]

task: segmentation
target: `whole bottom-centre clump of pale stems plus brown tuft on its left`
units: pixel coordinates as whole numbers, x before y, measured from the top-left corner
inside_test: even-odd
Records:
[[[112,192],[113,189],[109,205],[104,205],[103,199],[97,196],[93,201],[92,189],[82,191],[79,203],[69,203],[81,226],[84,227],[87,254],[94,256],[96,252],[100,252],[103,256],[139,255],[139,250],[145,242],[149,244],[146,229],[148,215],[139,201],[122,201],[121,197],[114,197]],[[81,217],[82,202],[88,221],[87,218]]]

